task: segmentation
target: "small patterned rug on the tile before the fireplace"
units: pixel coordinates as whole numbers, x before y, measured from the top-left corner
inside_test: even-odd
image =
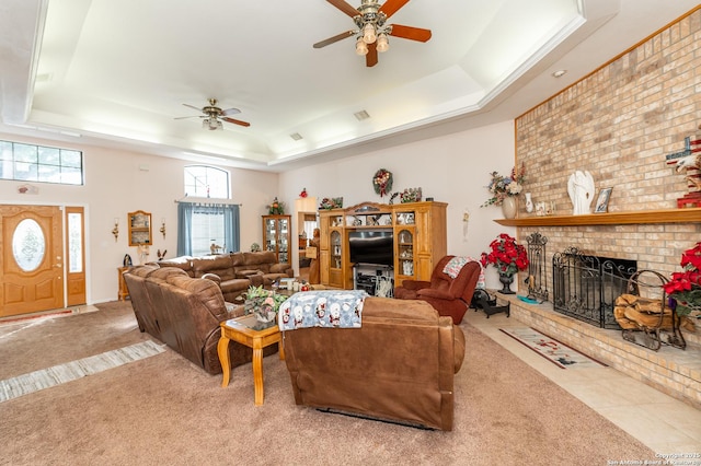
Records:
[[[499,328],[499,330],[536,351],[559,368],[582,369],[606,366],[606,364],[530,327]]]

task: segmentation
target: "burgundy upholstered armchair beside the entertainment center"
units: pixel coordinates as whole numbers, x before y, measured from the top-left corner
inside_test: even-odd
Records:
[[[394,288],[394,298],[426,301],[438,314],[450,316],[456,325],[460,324],[470,307],[482,268],[479,263],[471,260],[452,278],[444,270],[453,257],[456,256],[446,256],[438,261],[430,281],[404,280],[401,287]],[[460,258],[456,259],[458,260]]]

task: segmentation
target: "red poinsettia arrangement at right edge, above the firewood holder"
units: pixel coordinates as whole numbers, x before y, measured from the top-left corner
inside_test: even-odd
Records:
[[[669,306],[678,315],[692,312],[701,315],[701,242],[681,255],[682,272],[673,272],[671,280],[663,286],[669,295]]]

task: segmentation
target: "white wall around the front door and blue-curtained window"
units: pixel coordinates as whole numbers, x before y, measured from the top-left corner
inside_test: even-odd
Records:
[[[81,144],[56,143],[39,139],[1,135],[0,139],[48,147],[82,150],[84,186],[30,183],[36,195],[21,195],[21,182],[0,180],[0,203],[47,206],[82,206],[85,208],[85,254],[88,303],[114,301],[117,298],[117,267],[125,254],[138,264],[136,247],[127,245],[127,212],[151,212],[153,243],[149,260],[157,260],[157,249],[168,249],[166,257],[176,254],[177,206],[184,196],[183,167],[187,162]],[[241,207],[241,248],[261,242],[261,215],[265,206],[277,196],[278,175],[248,170],[231,173],[232,200]],[[188,199],[192,200],[192,199]],[[206,199],[204,199],[206,201]],[[112,235],[114,219],[119,219],[119,237]],[[159,232],[165,220],[165,238]],[[2,254],[7,254],[3,249]]]

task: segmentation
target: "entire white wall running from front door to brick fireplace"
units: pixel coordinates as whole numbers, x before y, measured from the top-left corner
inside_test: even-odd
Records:
[[[184,196],[183,167],[188,163],[136,152],[81,144],[57,144],[38,139],[3,136],[0,139],[48,147],[82,150],[85,164],[84,186],[33,183],[36,195],[21,195],[21,182],[0,180],[0,203],[59,205],[85,207],[88,302],[113,301],[117,296],[117,267],[125,254],[138,263],[136,247],[127,246],[127,212],[151,212],[153,244],[149,260],[157,260],[157,249],[176,253],[175,199]],[[319,200],[343,196],[344,207],[364,201],[388,202],[375,194],[371,178],[379,168],[393,173],[393,191],[421,187],[424,197],[448,202],[448,253],[479,257],[498,233],[515,234],[493,222],[502,218],[499,208],[480,208],[487,199],[490,173],[510,173],[514,166],[514,124],[506,121],[382,151],[368,151],[337,162],[320,163],[280,175],[228,168],[231,173],[232,200],[241,207],[241,249],[261,243],[261,215],[275,196],[286,202],[292,214],[292,232],[298,231],[292,212],[302,188]],[[193,200],[193,199],[189,199]],[[399,199],[397,199],[399,201]],[[470,211],[467,233],[463,211]],[[119,218],[119,238],[111,231]],[[158,231],[165,219],[165,238]],[[298,267],[297,241],[292,241],[294,265]],[[4,252],[3,252],[4,254]],[[487,286],[498,288],[495,270],[487,270]]]

